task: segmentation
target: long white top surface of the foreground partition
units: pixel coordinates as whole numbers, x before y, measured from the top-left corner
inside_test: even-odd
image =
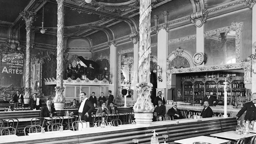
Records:
[[[221,120],[221,119],[228,119],[223,117],[213,117],[213,118],[202,118],[199,121],[209,121],[209,120]],[[191,122],[191,119],[187,119],[179,122],[181,123],[188,123]],[[195,120],[197,122],[197,120]],[[29,136],[18,136],[15,139],[2,139],[0,143],[15,143],[15,142],[21,142],[21,141],[30,141],[30,140],[39,140],[39,139],[47,139],[47,138],[60,138],[65,136],[77,136],[77,135],[83,135],[83,134],[94,134],[94,133],[100,133],[100,132],[107,132],[107,131],[120,131],[120,130],[127,130],[127,129],[136,129],[136,128],[142,128],[142,127],[154,127],[154,126],[162,126],[162,125],[170,125],[170,124],[177,124],[177,121],[159,121],[159,122],[152,122],[150,126],[141,126],[136,124],[126,124],[126,125],[120,125],[118,127],[89,127],[86,128],[84,131],[65,131],[60,133],[53,133],[53,134],[38,134],[38,135],[29,135]]]

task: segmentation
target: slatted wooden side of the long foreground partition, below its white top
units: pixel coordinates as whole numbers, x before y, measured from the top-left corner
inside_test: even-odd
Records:
[[[230,124],[228,124],[230,122]],[[74,136],[60,136],[58,138],[46,138],[38,140],[19,141],[20,144],[39,143],[83,143],[83,144],[130,144],[132,139],[139,139],[140,144],[149,144],[152,131],[155,129],[159,134],[159,143],[163,143],[163,134],[168,134],[168,143],[173,144],[175,140],[190,138],[195,136],[208,136],[227,130],[235,130],[236,119],[216,119],[197,122],[164,124],[151,127],[141,127],[133,129],[122,129],[116,131],[105,131],[91,134],[79,134]],[[72,140],[70,141],[69,138]],[[5,143],[10,144],[10,143]]]

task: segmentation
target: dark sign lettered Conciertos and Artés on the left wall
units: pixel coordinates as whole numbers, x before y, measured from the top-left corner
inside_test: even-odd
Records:
[[[24,55],[23,54],[3,54],[1,57],[1,81],[0,86],[15,87],[22,86],[22,77],[24,74]]]

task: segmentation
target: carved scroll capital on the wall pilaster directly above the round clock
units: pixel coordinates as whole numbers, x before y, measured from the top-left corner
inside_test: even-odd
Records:
[[[190,15],[191,22],[195,25],[195,27],[201,27],[203,23],[205,23],[207,17],[206,10],[200,10]]]

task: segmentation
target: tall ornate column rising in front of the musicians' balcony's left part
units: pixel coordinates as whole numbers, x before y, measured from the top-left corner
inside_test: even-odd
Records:
[[[65,97],[63,96],[63,54],[64,54],[64,0],[56,0],[58,3],[57,11],[57,69],[56,69],[56,95],[54,97],[54,106],[56,110],[61,110],[65,106]]]

